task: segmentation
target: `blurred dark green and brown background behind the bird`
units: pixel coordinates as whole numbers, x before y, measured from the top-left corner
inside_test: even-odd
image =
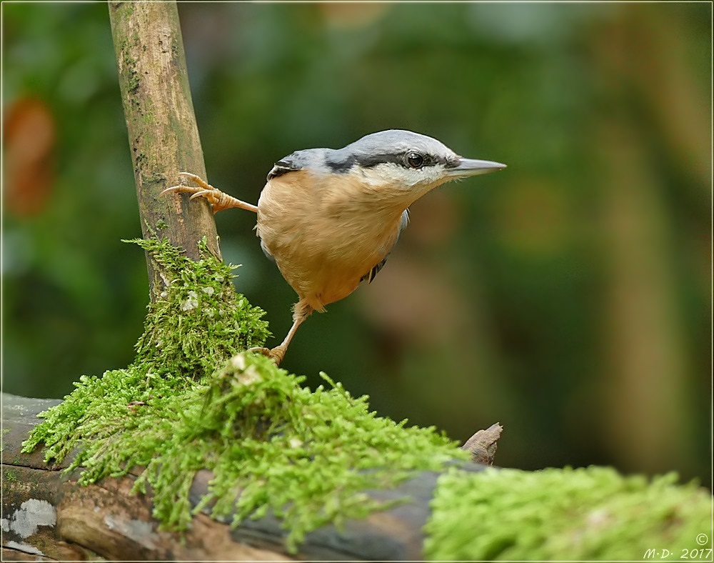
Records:
[[[371,286],[283,367],[497,463],[710,484],[710,4],[181,4],[215,186],[403,128],[506,162],[418,201]],[[104,4],[2,4],[3,388],[62,397],[131,362],[148,299]],[[276,341],[295,296],[216,216]]]

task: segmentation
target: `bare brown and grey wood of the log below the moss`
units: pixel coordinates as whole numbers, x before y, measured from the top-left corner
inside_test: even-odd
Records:
[[[132,494],[136,473],[80,486],[62,464],[48,465],[41,451],[20,452],[37,414],[60,401],[3,394],[3,560],[405,560],[423,559],[422,529],[438,472],[422,472],[376,499],[411,497],[366,519],[326,526],[307,534],[296,554],[285,547],[286,530],[270,514],[235,529],[197,514],[183,534],[159,529],[151,517],[151,494]],[[483,466],[467,464],[473,471]],[[206,494],[211,472],[199,472],[191,488],[195,506]],[[206,509],[204,512],[210,512]]]

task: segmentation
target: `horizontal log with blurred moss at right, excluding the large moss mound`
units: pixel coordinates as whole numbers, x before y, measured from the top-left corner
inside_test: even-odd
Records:
[[[185,532],[152,517],[152,492],[131,491],[143,468],[79,485],[71,457],[48,465],[21,453],[36,415],[56,400],[3,394],[3,560],[637,560],[711,556],[711,495],[674,475],[651,482],[613,469],[522,472],[452,462],[394,487],[366,491],[406,502],[323,525],[289,549],[289,530],[271,512],[210,517],[205,507]],[[279,467],[277,469],[280,469]],[[188,494],[196,507],[213,475],[199,471]]]

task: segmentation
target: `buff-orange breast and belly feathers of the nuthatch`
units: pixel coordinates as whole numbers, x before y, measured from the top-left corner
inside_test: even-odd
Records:
[[[325,179],[307,171],[271,179],[258,201],[258,236],[301,300],[313,309],[351,294],[390,251],[403,209],[366,209],[347,174]],[[369,195],[369,194],[367,194]]]

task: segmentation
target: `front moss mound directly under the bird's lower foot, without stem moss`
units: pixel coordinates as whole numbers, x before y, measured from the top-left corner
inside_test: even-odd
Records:
[[[212,514],[235,511],[237,525],[272,509],[285,520],[288,548],[294,549],[323,524],[385,508],[367,489],[393,487],[412,472],[463,457],[433,428],[376,417],[366,397],[354,399],[323,378],[331,388],[311,392],[301,387],[303,378],[265,357],[234,356],[206,380],[139,482],[157,489],[156,516],[187,524],[188,502],[183,497],[185,506],[176,505],[176,488],[187,491],[186,474],[208,467],[216,477],[196,510],[215,503]]]

